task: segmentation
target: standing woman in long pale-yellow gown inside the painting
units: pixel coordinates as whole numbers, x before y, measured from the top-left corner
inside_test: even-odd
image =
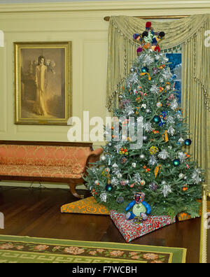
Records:
[[[37,115],[48,115],[45,108],[45,90],[47,87],[46,73],[48,67],[45,66],[45,57],[38,57],[38,65],[35,72],[36,83],[36,102],[34,104],[34,113]]]

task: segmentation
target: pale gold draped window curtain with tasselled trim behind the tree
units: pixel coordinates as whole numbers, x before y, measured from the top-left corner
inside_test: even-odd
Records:
[[[137,57],[139,45],[134,33],[145,30],[147,20],[129,16],[112,16],[109,21],[106,108],[111,112],[118,106],[118,95]],[[206,171],[210,191],[210,97],[209,62],[210,15],[192,15],[180,20],[152,22],[155,31],[165,31],[160,43],[164,52],[181,49],[183,116],[189,126],[192,158]]]

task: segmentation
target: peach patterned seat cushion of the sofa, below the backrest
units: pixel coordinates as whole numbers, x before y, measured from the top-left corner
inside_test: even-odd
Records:
[[[81,178],[80,164],[69,166],[34,166],[25,164],[0,164],[0,175],[50,178]]]

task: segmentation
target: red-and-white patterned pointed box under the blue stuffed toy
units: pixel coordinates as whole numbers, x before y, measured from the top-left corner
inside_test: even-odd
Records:
[[[137,224],[134,223],[134,220],[127,220],[125,218],[125,213],[118,213],[113,210],[110,212],[110,216],[126,242],[132,241],[133,239],[139,238],[139,236],[144,236],[145,234],[176,222],[176,218],[171,220],[167,215],[151,215],[148,217],[148,220]]]

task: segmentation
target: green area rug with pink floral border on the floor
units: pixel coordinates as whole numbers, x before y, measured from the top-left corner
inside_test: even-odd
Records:
[[[184,263],[185,248],[0,235],[0,263]]]

